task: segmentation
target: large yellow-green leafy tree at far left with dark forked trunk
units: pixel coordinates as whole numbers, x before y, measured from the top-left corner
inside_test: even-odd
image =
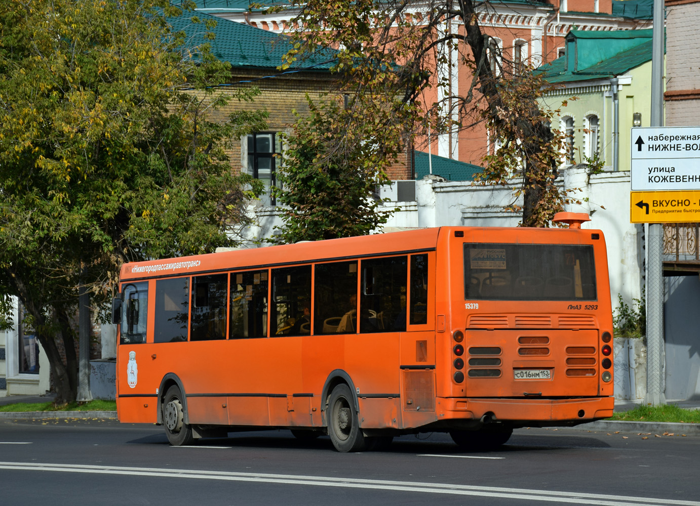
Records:
[[[0,288],[27,310],[57,403],[76,398],[80,287],[99,307],[125,261],[232,245],[260,191],[225,143],[265,114],[209,120],[254,96],[214,86],[230,71],[210,28],[165,0],[0,0]]]

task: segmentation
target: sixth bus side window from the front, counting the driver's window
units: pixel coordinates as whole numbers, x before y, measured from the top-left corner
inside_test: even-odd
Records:
[[[317,263],[314,334],[357,332],[357,261]]]

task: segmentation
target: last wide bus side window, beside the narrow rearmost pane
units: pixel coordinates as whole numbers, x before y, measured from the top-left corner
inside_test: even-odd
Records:
[[[406,330],[406,256],[362,261],[360,333]]]

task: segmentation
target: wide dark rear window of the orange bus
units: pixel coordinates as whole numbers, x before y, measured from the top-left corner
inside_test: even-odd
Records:
[[[465,244],[465,299],[595,301],[593,247]]]

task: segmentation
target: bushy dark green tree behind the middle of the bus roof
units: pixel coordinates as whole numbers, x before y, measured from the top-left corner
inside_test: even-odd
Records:
[[[275,189],[284,226],[276,237],[300,240],[364,236],[386,223],[393,210],[381,210],[377,188],[389,182],[386,166],[400,150],[400,140],[375,140],[377,125],[351,118],[353,108],[335,101],[297,117],[285,141],[281,188]],[[353,127],[344,128],[350,122]],[[338,139],[339,142],[333,140]]]

